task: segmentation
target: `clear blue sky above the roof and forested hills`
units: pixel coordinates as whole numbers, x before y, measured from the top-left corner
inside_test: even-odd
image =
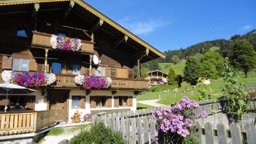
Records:
[[[256,29],[256,0],[86,0],[160,51]]]

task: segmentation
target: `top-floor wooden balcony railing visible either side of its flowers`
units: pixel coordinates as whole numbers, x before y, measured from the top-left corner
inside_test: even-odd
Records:
[[[32,36],[31,47],[52,49],[51,34],[47,34],[44,32],[37,32],[37,31],[33,31],[32,33],[33,33],[33,36]],[[82,40],[81,52],[94,53],[94,42]]]

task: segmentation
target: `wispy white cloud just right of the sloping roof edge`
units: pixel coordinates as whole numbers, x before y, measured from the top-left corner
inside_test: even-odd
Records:
[[[166,27],[170,24],[168,21],[163,21],[162,19],[140,19],[140,18],[129,18],[125,17],[118,21],[123,27],[131,30],[134,34],[145,35],[159,29],[160,27]]]

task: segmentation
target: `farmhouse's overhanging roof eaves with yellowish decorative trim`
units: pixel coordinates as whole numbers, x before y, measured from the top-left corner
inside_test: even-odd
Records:
[[[53,10],[58,13],[63,13],[64,10],[64,18],[66,18],[66,11],[69,9],[71,2],[75,3],[73,5],[72,10],[70,10],[70,17],[80,18],[81,21],[89,23],[93,28],[97,28],[97,34],[107,34],[107,38],[113,42],[113,47],[116,51],[129,51],[130,53],[134,53],[131,56],[132,60],[136,62],[138,58],[144,56],[141,62],[147,62],[149,60],[153,60],[155,58],[165,58],[166,54],[161,53],[152,45],[145,42],[129,30],[122,27],[109,17],[105,16],[96,8],[88,5],[82,0],[5,0],[0,1],[0,6],[2,7],[0,10],[0,15],[5,14],[23,14],[29,12],[31,14],[32,8],[34,8],[34,4],[39,3],[40,9],[39,12],[49,12],[51,14]],[[49,5],[51,3],[51,5]],[[22,5],[22,6],[21,6]],[[3,8],[6,6],[6,8]],[[44,13],[47,14],[47,13]],[[40,21],[40,17],[47,17],[44,14],[40,14],[38,16],[38,20]],[[103,22],[103,25],[102,25]],[[68,21],[67,21],[68,23]],[[99,24],[101,23],[100,27]],[[77,27],[80,27],[78,25]],[[81,27],[84,29],[84,27]],[[91,27],[85,27],[90,32]],[[99,28],[99,29],[98,29]],[[122,49],[120,48],[122,47]],[[149,53],[146,55],[146,49],[149,50]]]

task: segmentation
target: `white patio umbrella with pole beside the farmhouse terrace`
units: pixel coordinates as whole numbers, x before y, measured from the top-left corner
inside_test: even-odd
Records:
[[[8,94],[26,94],[33,92],[35,92],[35,90],[31,90],[23,86],[18,86],[16,84],[0,84],[0,93],[6,93],[5,112],[7,110]]]

